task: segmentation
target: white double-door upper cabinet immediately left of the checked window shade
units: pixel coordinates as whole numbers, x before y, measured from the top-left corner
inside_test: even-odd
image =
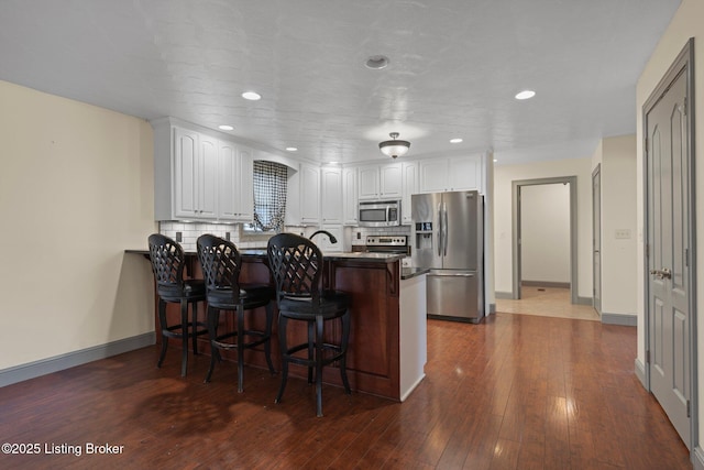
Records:
[[[252,222],[254,218],[253,161],[249,149],[220,142],[218,219]]]

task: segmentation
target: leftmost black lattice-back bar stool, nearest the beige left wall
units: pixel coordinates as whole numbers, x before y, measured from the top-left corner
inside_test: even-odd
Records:
[[[168,338],[182,340],[180,375],[186,376],[188,369],[188,337],[193,338],[194,354],[198,353],[198,336],[208,332],[206,324],[198,321],[198,303],[206,300],[206,285],[202,280],[184,280],[186,258],[176,241],[161,233],[148,238],[150,260],[158,294],[158,323],[162,329],[162,352],[156,367],[161,368],[166,357]],[[180,324],[168,325],[166,304],[180,305]],[[191,305],[193,318],[188,320],[188,305]],[[191,332],[188,332],[188,328]],[[198,329],[204,327],[204,329]]]

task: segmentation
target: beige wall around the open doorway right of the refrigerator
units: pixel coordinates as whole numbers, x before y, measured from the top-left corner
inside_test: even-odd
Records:
[[[501,162],[501,153],[496,153]],[[495,289],[513,291],[512,184],[518,179],[576,176],[578,183],[578,295],[592,298],[592,159],[564,159],[494,167]]]

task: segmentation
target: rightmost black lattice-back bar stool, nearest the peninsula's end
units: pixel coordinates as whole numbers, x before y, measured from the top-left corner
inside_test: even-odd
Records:
[[[288,379],[288,363],[308,368],[308,383],[312,383],[316,370],[316,413],[322,416],[322,368],[339,361],[344,392],[350,394],[346,374],[346,352],[350,338],[349,296],[340,292],[322,292],[322,253],[309,239],[293,233],[279,233],[267,244],[270,269],[276,284],[278,303],[278,341],[282,349],[282,383],[276,403],[282,401]],[[323,340],[324,324],[340,318],[342,338],[339,345]],[[288,346],[286,329],[288,320],[307,324],[308,340]],[[298,352],[307,350],[307,354]],[[326,357],[324,352],[331,351]]]

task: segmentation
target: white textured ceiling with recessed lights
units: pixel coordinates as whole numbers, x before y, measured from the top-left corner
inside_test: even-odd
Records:
[[[317,162],[591,156],[680,0],[2,0],[0,79]],[[389,64],[370,69],[370,56]],[[514,96],[532,89],[536,97]],[[262,95],[258,101],[243,91]],[[37,120],[40,117],[37,117]],[[450,139],[463,142],[452,144]]]

